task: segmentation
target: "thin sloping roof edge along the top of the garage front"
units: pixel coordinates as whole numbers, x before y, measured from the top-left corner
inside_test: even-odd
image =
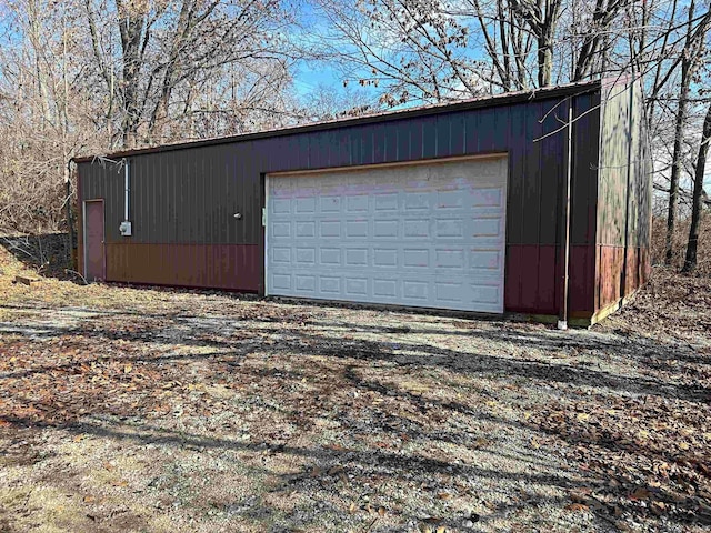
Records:
[[[140,155],[153,152],[168,152],[172,150],[183,150],[188,148],[199,148],[213,144],[224,144],[230,142],[249,141],[254,139],[264,139],[269,137],[289,135],[294,133],[307,133],[310,131],[321,131],[328,129],[343,128],[347,125],[370,124],[373,122],[382,122],[389,120],[409,119],[414,117],[427,117],[431,114],[449,113],[453,111],[467,111],[469,109],[489,108],[494,105],[507,105],[511,103],[520,103],[530,100],[542,100],[559,97],[569,97],[573,94],[584,94],[601,87],[600,80],[567,83],[563,86],[547,87],[542,89],[533,89],[528,91],[505,92],[502,94],[478,97],[454,103],[438,103],[430,105],[420,105],[417,108],[408,108],[398,111],[384,111],[372,114],[365,114],[354,118],[336,119],[322,122],[312,122],[308,124],[293,125],[276,130],[258,131],[253,133],[242,133],[239,135],[217,137],[211,139],[201,139],[197,141],[183,141],[172,144],[160,144],[156,147],[140,148],[136,150],[122,150],[101,155],[82,155],[72,158],[71,161],[84,163],[93,161],[97,158],[120,159],[130,155]]]

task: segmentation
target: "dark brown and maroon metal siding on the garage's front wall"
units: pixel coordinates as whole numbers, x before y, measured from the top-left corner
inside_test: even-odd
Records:
[[[599,101],[599,95],[585,91],[574,98],[577,114]],[[563,129],[540,142],[533,140],[560,128],[567,105],[552,108],[563,98],[557,94],[423,117],[382,117],[371,123],[134,153],[129,157],[131,238],[121,238],[118,231],[123,217],[123,174],[116,165],[81,162],[81,194],[104,198],[107,207],[111,205],[107,209],[110,281],[260,291],[263,250],[234,255],[230,247],[259,249],[262,243],[264,173],[508,152],[505,309],[552,314],[559,305],[560,191],[565,177],[567,133]],[[580,266],[572,269],[571,309],[588,315],[593,312],[589,293],[594,283],[591,247],[597,192],[590,162],[597,162],[598,121],[593,111],[577,124],[574,148],[572,264]],[[243,214],[241,221],[232,218],[236,212]],[[144,252],[126,250],[136,244],[142,244],[136,249]],[[188,252],[173,252],[178,244],[212,247],[212,255],[204,252],[207,255],[198,257],[222,266],[213,271],[193,259],[190,264],[206,272],[178,274],[177,269],[183,266],[176,261],[188,257]]]

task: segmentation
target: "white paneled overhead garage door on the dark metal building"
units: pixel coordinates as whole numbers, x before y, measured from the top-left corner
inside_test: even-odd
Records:
[[[503,312],[507,160],[270,175],[267,294]]]

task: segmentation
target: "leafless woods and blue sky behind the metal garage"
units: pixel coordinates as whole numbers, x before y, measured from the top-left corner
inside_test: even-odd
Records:
[[[709,0],[0,0],[0,233],[63,229],[80,153],[642,76],[662,260],[709,245]]]

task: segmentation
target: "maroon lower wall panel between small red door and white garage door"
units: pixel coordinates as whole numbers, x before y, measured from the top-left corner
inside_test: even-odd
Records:
[[[260,269],[257,244],[107,244],[107,281],[258,292]]]

